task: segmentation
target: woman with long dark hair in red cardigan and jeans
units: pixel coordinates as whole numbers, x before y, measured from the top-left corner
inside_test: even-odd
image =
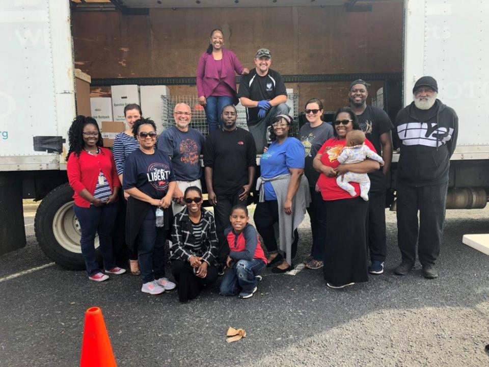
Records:
[[[89,279],[103,281],[108,275],[98,268],[95,233],[98,232],[105,273],[123,274],[116,266],[112,251],[112,232],[117,216],[117,195],[121,183],[112,152],[102,148],[102,135],[97,121],[76,116],[68,131],[70,149],[66,170],[75,192],[74,211],[82,229],[82,255]]]

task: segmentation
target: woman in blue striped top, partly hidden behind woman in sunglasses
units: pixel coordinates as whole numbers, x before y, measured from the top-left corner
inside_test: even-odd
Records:
[[[126,107],[124,107],[124,117],[126,119],[127,129],[122,133],[116,135],[114,139],[114,144],[112,145],[112,153],[114,154],[114,161],[116,162],[117,174],[119,175],[121,185],[126,158],[130,153],[139,148],[139,142],[136,138],[134,138],[134,135],[132,134],[132,126],[134,125],[134,121],[139,120],[142,116],[143,112],[141,111],[141,107],[139,106],[139,104],[130,103]],[[124,200],[122,199],[122,196],[124,196]],[[125,242],[123,232],[125,228],[126,203],[128,198],[129,194],[125,193],[124,190],[122,190],[119,215],[116,225],[116,236],[120,237],[120,242],[122,243]],[[118,230],[122,233],[118,233]],[[129,254],[126,254],[126,256],[129,257],[129,269],[131,271],[131,274],[141,275],[138,263],[137,246],[134,247],[132,251],[129,251]]]

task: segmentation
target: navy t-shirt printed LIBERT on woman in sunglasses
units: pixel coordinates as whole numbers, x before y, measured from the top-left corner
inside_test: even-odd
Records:
[[[161,199],[168,192],[168,183],[175,181],[168,155],[155,149],[146,154],[134,150],[126,158],[122,188],[138,188],[153,199]]]

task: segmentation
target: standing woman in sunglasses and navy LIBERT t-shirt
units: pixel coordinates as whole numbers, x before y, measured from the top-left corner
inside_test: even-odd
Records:
[[[168,208],[176,181],[168,155],[154,148],[154,121],[140,118],[134,122],[132,133],[139,142],[139,148],[129,154],[123,172],[122,187],[130,195],[127,200],[126,243],[132,250],[138,241],[138,260],[143,277],[141,291],[157,295],[175,288],[175,283],[165,278],[165,242],[170,229],[171,211]]]

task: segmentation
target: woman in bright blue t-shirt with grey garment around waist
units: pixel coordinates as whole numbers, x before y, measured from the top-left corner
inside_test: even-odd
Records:
[[[254,220],[256,229],[268,250],[268,264],[277,265],[271,271],[285,273],[293,268],[292,258],[297,252],[299,240],[297,227],[304,219],[310,202],[309,187],[304,176],[304,146],[289,137],[293,119],[279,115],[273,120],[273,143],[260,159],[261,176],[257,189],[260,200],[256,206]],[[274,224],[279,224],[280,248],[278,252]]]

